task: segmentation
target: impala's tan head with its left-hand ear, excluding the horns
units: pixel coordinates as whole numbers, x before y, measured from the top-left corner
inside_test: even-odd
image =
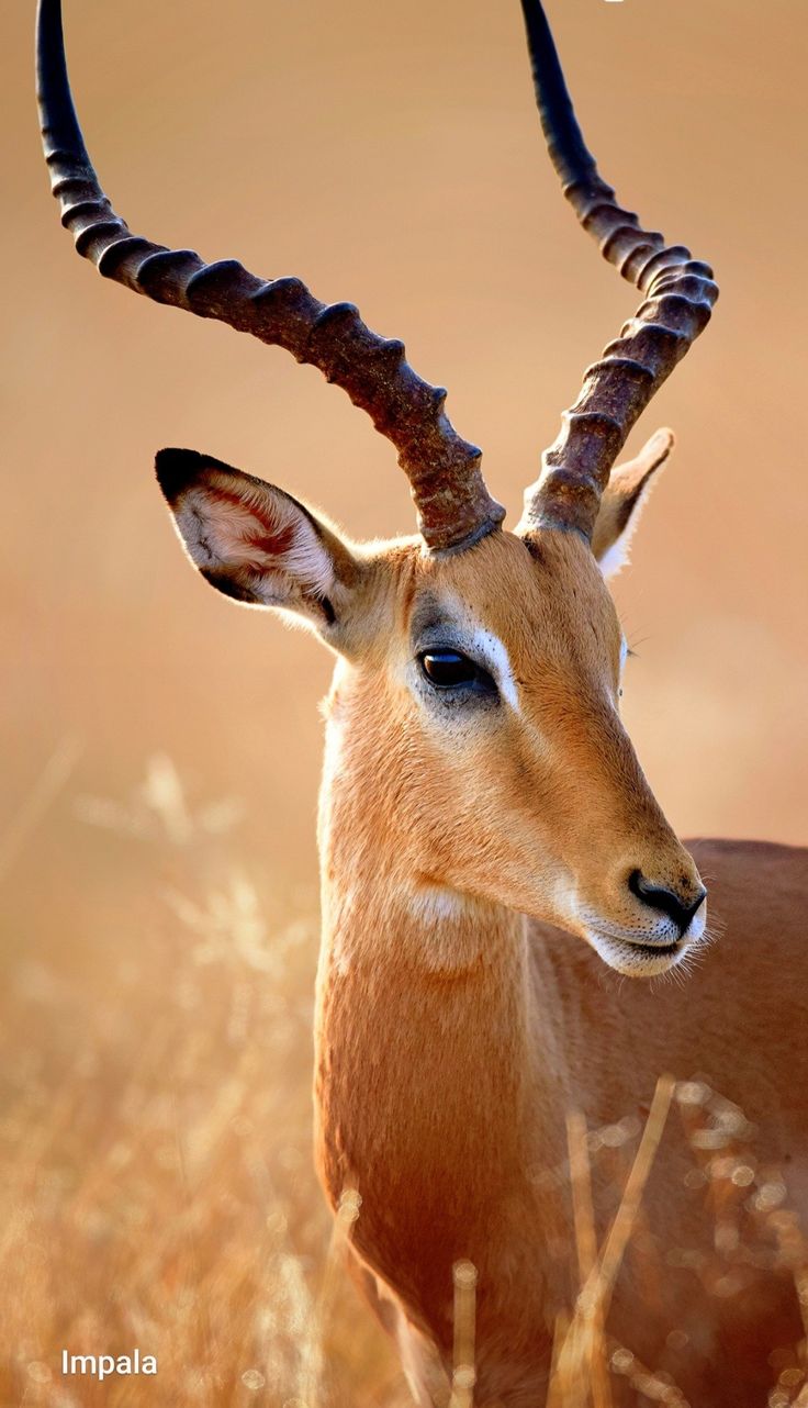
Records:
[[[700,939],[705,891],[622,728],[625,642],[579,534],[362,549],[218,462],[163,451],[158,473],[207,580],[303,615],[341,656],[331,803],[379,886],[424,912],[474,900],[546,919],[626,974]]]

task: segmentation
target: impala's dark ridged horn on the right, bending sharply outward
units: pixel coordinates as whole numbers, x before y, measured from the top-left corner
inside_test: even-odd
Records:
[[[640,411],[707,327],[718,287],[712,269],[684,245],[666,245],[622,210],[601,179],[576,121],[553,37],[539,0],[522,0],[534,84],[548,151],[583,228],[624,279],[645,294],[619,338],[584,373],[563,413],[542,472],[525,493],[517,531],[572,528],[591,539],[610,470]]]

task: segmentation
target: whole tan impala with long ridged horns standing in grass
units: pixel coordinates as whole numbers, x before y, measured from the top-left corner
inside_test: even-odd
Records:
[[[802,1204],[808,1169],[808,852],[677,841],[621,724],[625,641],[605,586],[670,434],[612,466],[717,286],[617,204],[542,6],[524,11],[564,193],[642,303],[587,370],[514,532],[480,452],[401,342],[296,277],[265,282],[130,232],[82,139],[59,0],[41,0],[38,39],[45,155],[79,252],[107,279],[318,366],[393,441],[412,487],[418,534],[363,546],[260,479],[193,451],[158,455],[203,576],[296,614],[336,656],[320,807],[318,1167],[335,1207],[360,1193],[349,1260],[421,1404],[442,1401],[435,1366],[450,1366],[452,1267],[474,1264],[480,1408],[545,1401],[553,1326],[576,1298],[557,1176],[567,1111],[636,1115],[660,1073],[701,1071],[743,1105],[760,1157]],[[711,946],[701,870],[725,931]],[[686,984],[648,981],[694,955]],[[670,1136],[645,1215],[662,1247],[698,1250],[712,1224],[686,1167]],[[600,1174],[594,1198],[604,1226]],[[664,1267],[650,1305],[629,1260],[610,1328],[711,1408],[762,1402],[769,1352],[801,1335],[777,1267],[763,1293],[721,1297],[684,1262]]]

